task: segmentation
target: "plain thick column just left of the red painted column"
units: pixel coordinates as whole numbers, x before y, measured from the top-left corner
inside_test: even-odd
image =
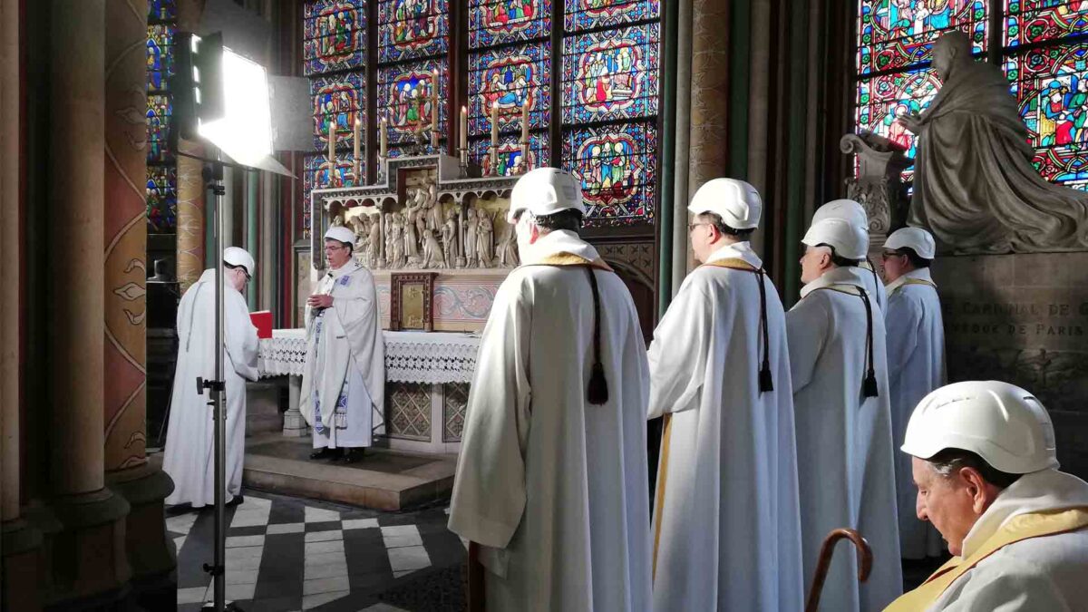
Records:
[[[47,285],[51,510],[47,604],[124,595],[128,502],[103,476],[106,0],[52,0]],[[139,111],[139,109],[137,109]],[[143,112],[143,111],[140,111]]]

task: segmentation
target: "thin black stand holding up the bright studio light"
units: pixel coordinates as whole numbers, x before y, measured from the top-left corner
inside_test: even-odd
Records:
[[[203,564],[203,571],[211,574],[213,580],[213,598],[210,603],[206,603],[201,610],[214,610],[215,612],[235,611],[242,612],[234,602],[226,601],[226,379],[223,375],[223,196],[226,189],[223,187],[223,155],[219,147],[215,147],[215,161],[211,162],[208,173],[206,169],[205,180],[208,182],[208,191],[213,194],[213,253],[215,254],[215,379],[202,380],[197,377],[198,393],[209,390],[211,400],[208,405],[212,407],[212,421],[214,423],[214,487],[215,487],[215,526],[214,526],[214,553],[212,564]]]

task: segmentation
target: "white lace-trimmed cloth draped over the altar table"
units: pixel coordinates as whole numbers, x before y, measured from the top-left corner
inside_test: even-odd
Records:
[[[391,382],[472,382],[480,336],[465,333],[383,331],[385,380]],[[261,378],[302,376],[306,330],[273,330],[260,341]]]

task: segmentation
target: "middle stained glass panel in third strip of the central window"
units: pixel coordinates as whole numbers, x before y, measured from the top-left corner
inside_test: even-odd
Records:
[[[529,101],[530,130],[545,127],[552,109],[548,44],[473,53],[469,59],[469,134],[490,134],[493,105],[500,132],[521,131]]]

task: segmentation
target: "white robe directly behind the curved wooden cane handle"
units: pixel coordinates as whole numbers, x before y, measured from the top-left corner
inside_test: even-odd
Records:
[[[820,610],[881,610],[903,592],[895,512],[883,313],[871,304],[878,396],[865,397],[866,310],[856,268],[834,268],[801,289],[786,315],[793,375],[805,591],[824,538],[856,529],[873,547],[873,573],[858,584],[854,552],[839,550]],[[845,548],[840,546],[838,548]]]

